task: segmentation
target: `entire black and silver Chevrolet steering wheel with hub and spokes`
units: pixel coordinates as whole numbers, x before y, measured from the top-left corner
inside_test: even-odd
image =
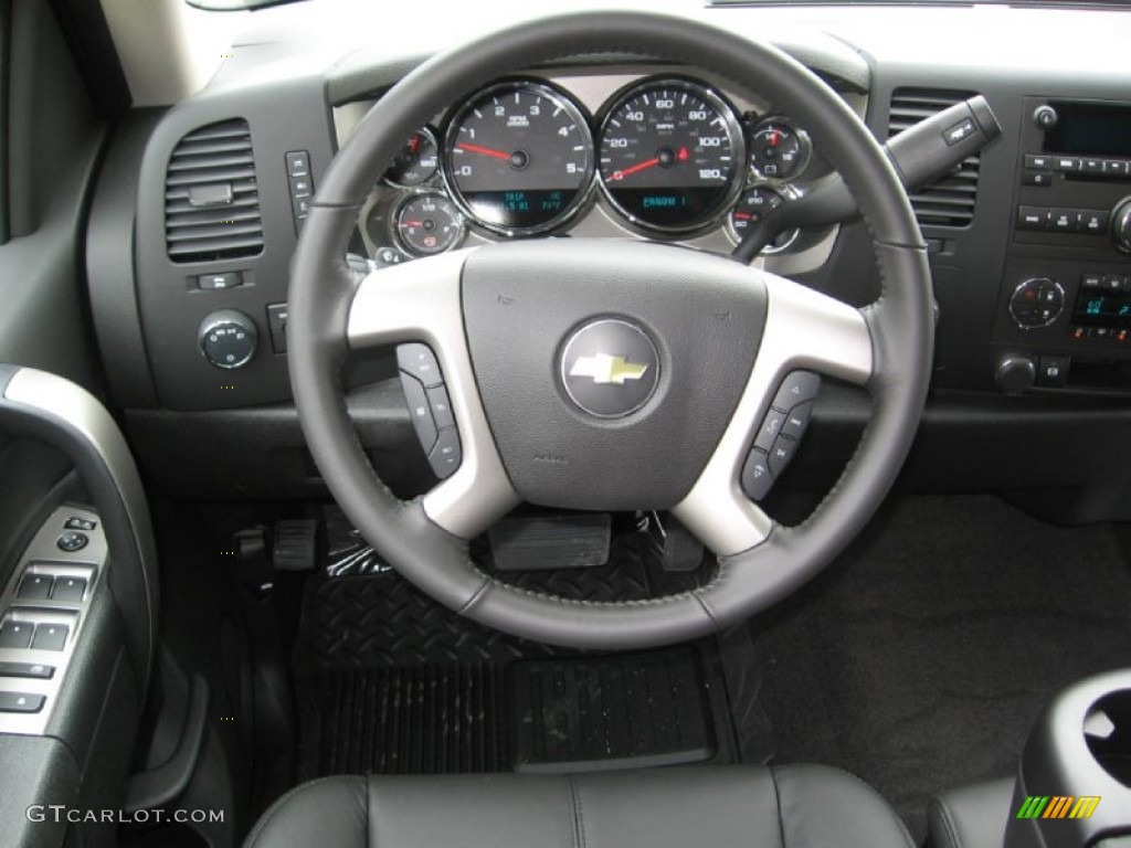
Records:
[[[483,246],[355,282],[345,254],[359,209],[405,138],[506,72],[599,53],[698,66],[789,104],[861,208],[880,271],[875,303],[856,310],[723,257],[612,239]],[[288,301],[291,383],[303,432],[369,543],[469,618],[599,649],[723,629],[829,563],[903,465],[925,400],[934,329],[926,252],[907,196],[845,103],[774,46],[628,12],[516,26],[434,57],[390,89],[322,180]],[[340,369],[353,349],[409,341],[434,352],[463,456],[451,476],[406,502],[381,483],[355,436]],[[579,351],[630,351],[627,366],[638,374],[647,366],[646,379],[624,379],[623,396],[579,400],[564,365]],[[873,407],[837,485],[802,525],[786,528],[746,497],[740,474],[783,380],[801,370],[866,387]],[[717,572],[693,591],[622,604],[506,585],[475,565],[468,543],[521,501],[670,510],[718,556]]]

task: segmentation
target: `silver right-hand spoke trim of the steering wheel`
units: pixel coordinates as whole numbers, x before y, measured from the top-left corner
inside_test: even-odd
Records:
[[[766,286],[766,326],[746,388],[707,467],[672,513],[719,556],[757,547],[774,522],[739,477],[759,422],[782,379],[806,369],[863,384],[872,375],[872,336],[861,312],[811,288],[750,269]],[[753,284],[753,282],[752,282]]]

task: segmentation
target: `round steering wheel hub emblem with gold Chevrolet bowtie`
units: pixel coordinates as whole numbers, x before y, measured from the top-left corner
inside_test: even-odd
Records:
[[[659,384],[659,353],[634,323],[603,319],[577,330],[561,355],[570,400],[596,418],[623,418],[651,399]]]

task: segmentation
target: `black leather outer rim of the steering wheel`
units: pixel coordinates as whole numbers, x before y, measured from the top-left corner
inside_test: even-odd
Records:
[[[789,104],[856,198],[881,280],[880,297],[858,312],[871,346],[860,382],[872,395],[872,417],[821,505],[798,527],[774,523],[757,545],[725,552],[709,585],[625,604],[541,595],[482,572],[467,539],[433,521],[422,499],[403,502],[381,483],[356,439],[340,386],[357,294],[345,262],[347,243],[365,197],[404,139],[504,73],[601,53],[697,66]],[[906,458],[926,397],[934,329],[926,251],[907,196],[882,148],[840,97],[771,45],[682,18],[628,12],[569,15],[507,29],[434,57],[382,96],[322,180],[299,240],[288,304],[290,373],[302,429],[323,479],[362,535],[404,577],[463,615],[524,638],[596,649],[666,644],[720,630],[828,564],[867,522]]]

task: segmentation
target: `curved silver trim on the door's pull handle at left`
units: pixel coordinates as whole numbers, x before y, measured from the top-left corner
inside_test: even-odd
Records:
[[[77,430],[102,458],[118,495],[126,509],[133,544],[141,564],[141,580],[146,598],[156,597],[149,586],[149,576],[157,573],[157,543],[153,536],[149,502],[138,474],[133,455],[118,429],[118,424],[106,408],[83,387],[57,374],[35,369],[20,369],[8,381],[5,398],[35,409],[43,417],[60,426]],[[153,650],[157,646],[156,611],[149,609],[147,622],[147,644]]]

